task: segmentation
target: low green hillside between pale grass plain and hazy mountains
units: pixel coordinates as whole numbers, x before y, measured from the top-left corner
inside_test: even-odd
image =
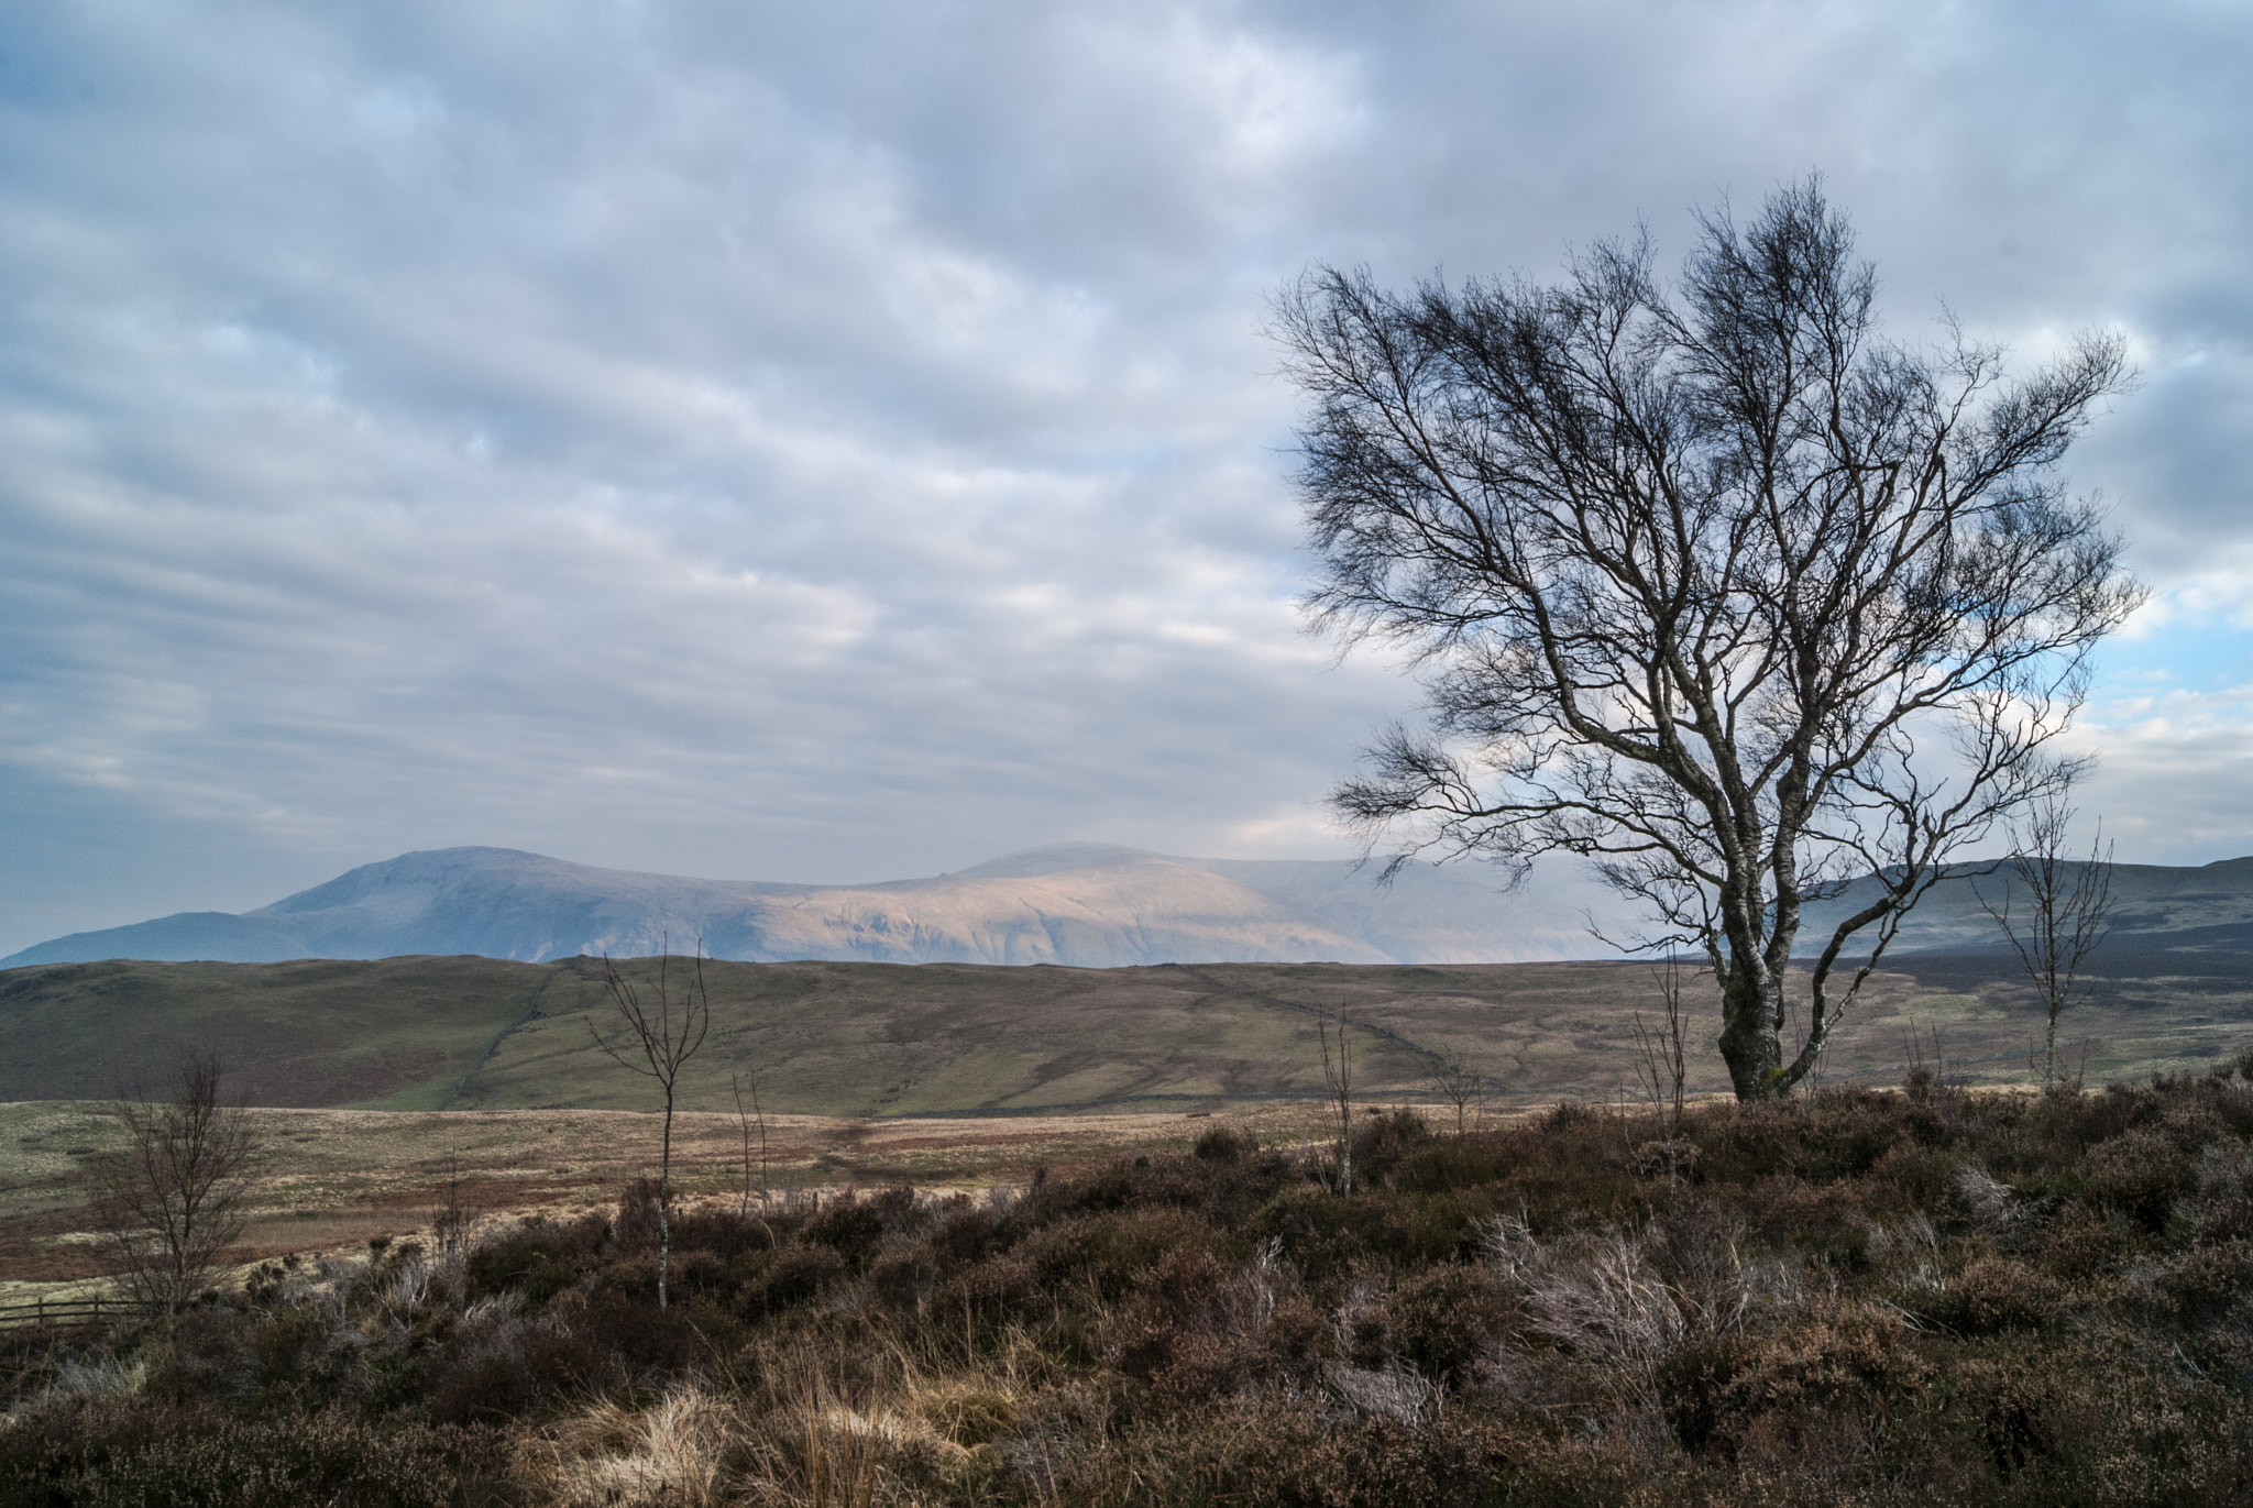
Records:
[[[656,960],[622,965],[638,987]],[[680,960],[671,983],[685,978]],[[707,963],[712,1035],[683,1109],[732,1109],[730,1077],[807,1116],[1217,1109],[1323,1093],[1323,1023],[1354,1026],[1361,1098],[1419,1093],[1440,1057],[1503,1102],[1613,1098],[1633,1082],[1640,963],[1156,965],[1131,969]],[[1724,1091],[1710,983],[1685,978],[1692,1089]],[[0,972],[0,1100],[104,1098],[185,1046],[219,1048],[252,1102],[360,1109],[649,1109],[611,1062],[597,960],[104,963]],[[1904,958],[1872,978],[1827,1077],[1893,1082],[1940,1032],[1974,1082],[2023,1082],[2039,1035],[2003,960]],[[2134,951],[2066,1037],[2091,1077],[2235,1053],[2253,1032],[2248,958]]]

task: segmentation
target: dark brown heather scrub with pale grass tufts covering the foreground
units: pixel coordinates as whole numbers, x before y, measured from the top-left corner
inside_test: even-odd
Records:
[[[2253,1064],[2248,1064],[2253,1071]],[[2253,1084],[1214,1125],[16,1334],[7,1503],[2253,1501]]]

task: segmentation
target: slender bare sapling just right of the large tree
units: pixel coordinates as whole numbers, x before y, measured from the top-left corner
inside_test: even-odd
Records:
[[[2073,807],[2057,798],[2043,800],[2028,814],[2023,830],[2012,830],[2014,852],[2005,866],[2003,902],[1987,899],[1978,881],[1971,884],[1978,904],[2019,953],[2019,965],[2034,981],[2034,994],[2050,1017],[2041,1048],[2043,1089],[2057,1084],[2057,1017],[2071,1003],[2089,953],[2111,931],[2111,845],[2100,830],[2089,843],[2089,859],[2077,863],[2066,857],[2071,825]]]

